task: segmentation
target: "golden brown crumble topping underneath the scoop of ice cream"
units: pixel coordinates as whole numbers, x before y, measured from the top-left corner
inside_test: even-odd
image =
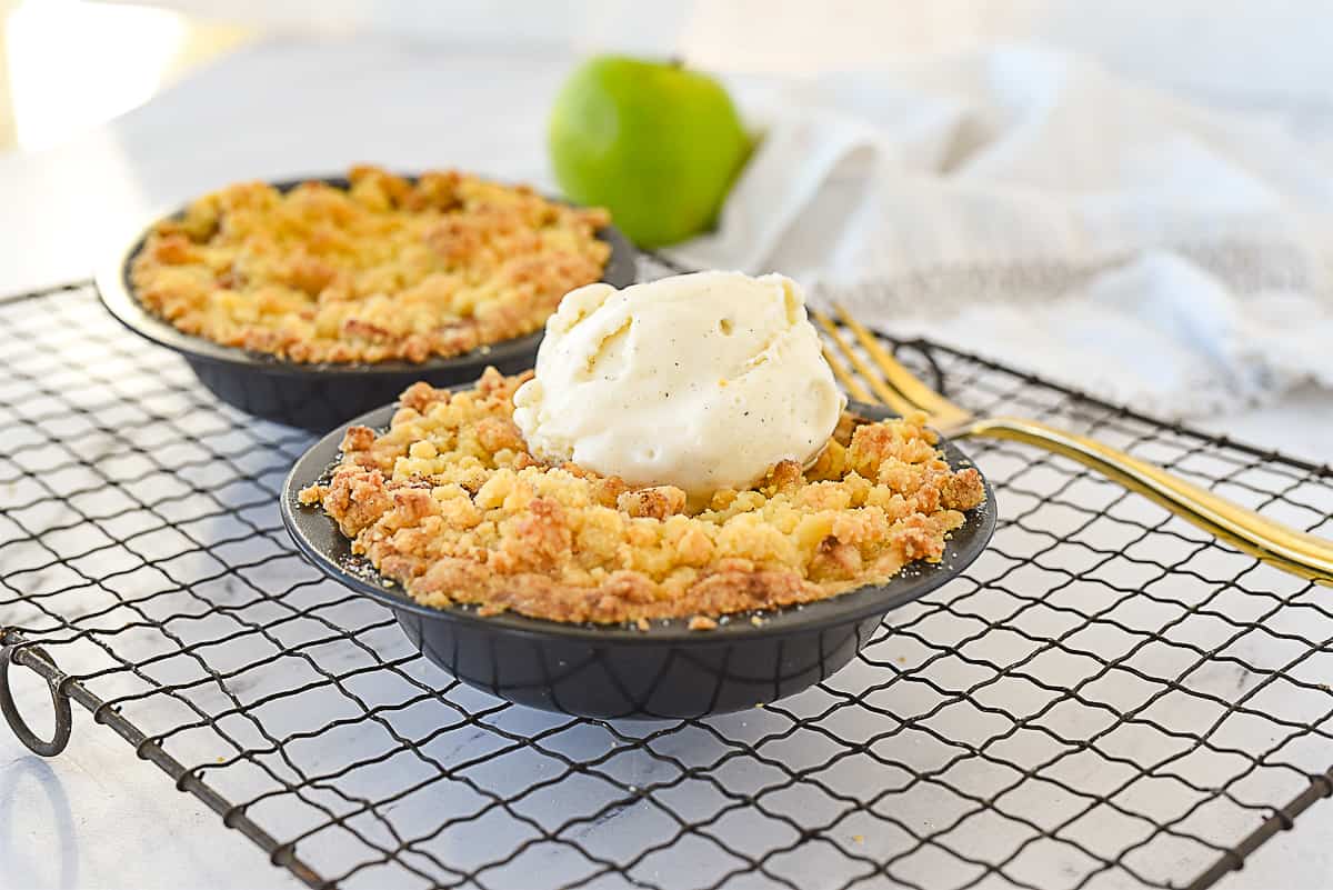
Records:
[[[689,510],[677,488],[533,460],[512,420],[529,376],[488,369],[459,393],[415,384],[385,433],[348,430],[328,484],[301,502],[321,505],[353,552],[427,605],[709,629],[937,561],[985,494],[977,470],[949,468],[924,416],[844,414],[809,470],[786,461]]]

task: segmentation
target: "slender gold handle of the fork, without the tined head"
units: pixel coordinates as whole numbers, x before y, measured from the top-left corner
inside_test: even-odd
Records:
[[[1150,497],[1176,516],[1285,572],[1333,585],[1333,544],[1253,510],[1085,436],[1017,417],[973,420],[954,434],[1008,438],[1064,454]]]

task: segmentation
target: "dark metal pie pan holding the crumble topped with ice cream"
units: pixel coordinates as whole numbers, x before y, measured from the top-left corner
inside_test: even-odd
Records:
[[[396,405],[355,424],[384,429]],[[877,405],[850,410],[881,420]],[[387,586],[353,556],[351,542],[319,506],[297,493],[339,461],[344,429],[313,445],[283,486],[281,513],[300,552],[331,578],[388,606],[421,653],[463,682],[492,695],[544,710],[612,719],[702,717],[793,695],[845,666],[893,609],[960,574],[990,541],[994,493],[966,514],[944,558],[918,562],[881,585],[797,608],[730,616],[714,630],[689,630],[682,620],[653,621],[648,630],[624,625],[575,625],[503,613],[479,616],[473,606],[436,609],[415,602],[401,586]],[[954,468],[972,462],[942,442]]]

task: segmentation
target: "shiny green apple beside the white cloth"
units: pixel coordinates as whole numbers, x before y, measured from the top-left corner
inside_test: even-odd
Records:
[[[629,240],[653,248],[712,225],[750,143],[712,77],[597,56],[560,91],[549,147],[565,195],[608,208]]]

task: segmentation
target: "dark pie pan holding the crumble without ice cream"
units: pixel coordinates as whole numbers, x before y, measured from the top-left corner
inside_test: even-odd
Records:
[[[320,176],[273,183],[273,187],[285,192],[312,179],[340,188],[348,185],[345,177]],[[177,209],[167,216],[179,216],[181,212]],[[135,333],[180,353],[200,382],[224,402],[265,420],[324,432],[397,398],[399,393],[419,380],[435,386],[448,386],[476,380],[487,365],[495,365],[505,373],[525,370],[532,368],[544,333],[539,329],[461,356],[431,358],[420,364],[301,364],[224,346],[177,330],[135,297],[129,268],[151,229],[152,226],[145,226],[127,238],[127,245],[99,269],[96,285],[103,304]],[[600,229],[597,237],[611,245],[611,258],[601,280],[617,288],[633,284],[637,256],[635,248],[615,226]]]

